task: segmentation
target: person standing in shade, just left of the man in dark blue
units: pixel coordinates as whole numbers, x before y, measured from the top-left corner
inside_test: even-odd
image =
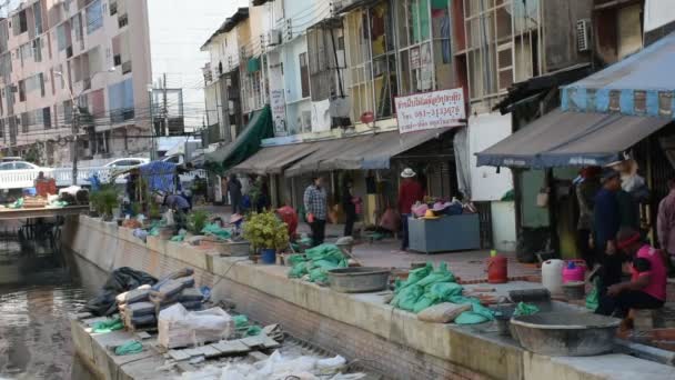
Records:
[[[578,202],[577,249],[586,262],[587,268],[595,264],[595,253],[591,249],[591,231],[593,231],[593,208],[595,194],[601,189],[600,168],[588,167],[581,172],[581,182],[576,186],[576,200]]]

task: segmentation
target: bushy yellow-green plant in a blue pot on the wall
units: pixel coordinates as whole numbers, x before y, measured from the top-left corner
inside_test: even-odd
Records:
[[[276,251],[289,246],[286,223],[276,218],[272,211],[252,213],[244,223],[243,236],[254,250],[261,250],[263,263],[276,262]]]

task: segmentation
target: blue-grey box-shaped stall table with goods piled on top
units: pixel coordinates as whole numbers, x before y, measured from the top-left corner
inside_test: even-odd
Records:
[[[410,218],[410,249],[424,253],[463,251],[481,248],[477,213],[445,216],[439,219]]]

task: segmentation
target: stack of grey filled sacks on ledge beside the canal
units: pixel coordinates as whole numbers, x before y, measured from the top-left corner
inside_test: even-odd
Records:
[[[202,309],[203,294],[194,288],[192,270],[173,273],[154,286],[141,286],[117,297],[124,326],[138,330],[154,328],[160,311],[181,303],[185,309]]]

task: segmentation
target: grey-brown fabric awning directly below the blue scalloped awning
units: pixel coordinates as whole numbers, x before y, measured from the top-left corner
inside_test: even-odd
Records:
[[[477,153],[477,166],[532,169],[605,166],[671,121],[558,109]]]

